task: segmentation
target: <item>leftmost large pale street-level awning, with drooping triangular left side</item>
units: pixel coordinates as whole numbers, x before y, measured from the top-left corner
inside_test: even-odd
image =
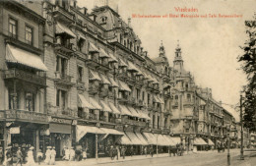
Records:
[[[100,130],[97,127],[90,127],[90,126],[81,126],[77,125],[77,141],[79,141],[81,138],[83,138],[87,133],[91,134],[105,134],[103,130]]]

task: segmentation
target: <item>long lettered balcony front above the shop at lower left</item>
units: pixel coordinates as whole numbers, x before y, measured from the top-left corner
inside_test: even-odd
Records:
[[[6,110],[0,111],[1,118],[4,117],[6,121],[22,121],[32,122],[38,124],[48,123],[48,117],[44,113],[25,111],[25,110]]]

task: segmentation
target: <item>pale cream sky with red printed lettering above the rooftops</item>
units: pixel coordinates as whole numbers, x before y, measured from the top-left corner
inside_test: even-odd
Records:
[[[78,6],[92,8],[102,6],[107,0],[78,0]],[[251,20],[256,12],[256,0],[108,0],[108,5],[118,9],[127,23],[136,15],[198,15],[199,18],[132,18],[131,25],[139,35],[144,50],[150,57],[159,56],[160,41],[165,47],[170,66],[177,40],[182,51],[184,67],[195,82],[210,87],[217,101],[237,104],[246,76],[239,69],[237,56],[243,52],[246,40],[245,20]],[[117,8],[118,7],[118,8]],[[176,12],[175,8],[194,8],[197,12]],[[217,18],[210,18],[216,14]],[[222,15],[239,15],[240,18],[219,18]],[[207,15],[207,18],[201,16]]]

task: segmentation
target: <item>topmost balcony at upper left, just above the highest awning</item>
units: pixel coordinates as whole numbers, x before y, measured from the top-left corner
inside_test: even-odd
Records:
[[[72,23],[73,15],[68,11],[68,9],[61,8],[60,6],[53,7],[52,15],[57,20],[62,20],[65,22]]]

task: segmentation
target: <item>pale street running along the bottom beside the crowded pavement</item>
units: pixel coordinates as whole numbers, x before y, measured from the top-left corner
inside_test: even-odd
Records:
[[[224,153],[218,153],[215,151],[200,151],[196,153],[185,154],[184,156],[172,156],[172,157],[145,157],[145,156],[133,156],[126,157],[125,160],[110,160],[108,158],[100,158],[97,161],[95,159],[88,159],[80,162],[56,162],[56,165],[65,166],[84,166],[84,165],[102,165],[102,166],[226,166],[226,150]],[[245,152],[244,160],[239,160],[239,149],[230,150],[231,166],[256,166],[256,153]]]

